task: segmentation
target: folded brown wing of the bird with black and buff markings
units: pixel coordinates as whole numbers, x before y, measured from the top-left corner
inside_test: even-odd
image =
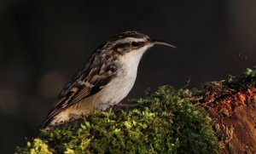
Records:
[[[109,63],[108,65],[106,63],[97,63],[99,63],[99,60],[92,62],[89,60],[87,64],[90,65],[82,66],[83,68],[73,77],[73,82],[67,83],[55,101],[55,106],[49,111],[44,120],[44,128],[61,111],[73,106],[80,100],[96,94],[113,80],[113,77],[116,76],[117,66],[114,64],[109,65]],[[84,73],[81,73],[81,71]],[[87,76],[84,76],[84,74],[87,74]]]

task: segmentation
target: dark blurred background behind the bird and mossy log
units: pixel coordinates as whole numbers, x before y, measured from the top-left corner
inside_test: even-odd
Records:
[[[256,1],[0,1],[0,146],[37,135],[55,96],[103,41],[127,30],[151,48],[127,98],[162,84],[189,88],[255,65]],[[127,100],[127,98],[125,100]]]

